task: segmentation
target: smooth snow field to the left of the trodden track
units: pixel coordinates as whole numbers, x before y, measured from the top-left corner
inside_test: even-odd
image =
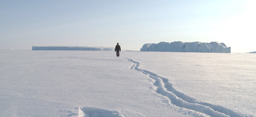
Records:
[[[191,117],[166,104],[165,97],[149,88],[149,77],[130,69],[132,63],[115,52],[1,55],[0,117]]]

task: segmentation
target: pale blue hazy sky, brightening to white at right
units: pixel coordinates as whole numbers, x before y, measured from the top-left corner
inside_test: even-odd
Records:
[[[0,0],[0,49],[225,43],[256,51],[256,0]]]

